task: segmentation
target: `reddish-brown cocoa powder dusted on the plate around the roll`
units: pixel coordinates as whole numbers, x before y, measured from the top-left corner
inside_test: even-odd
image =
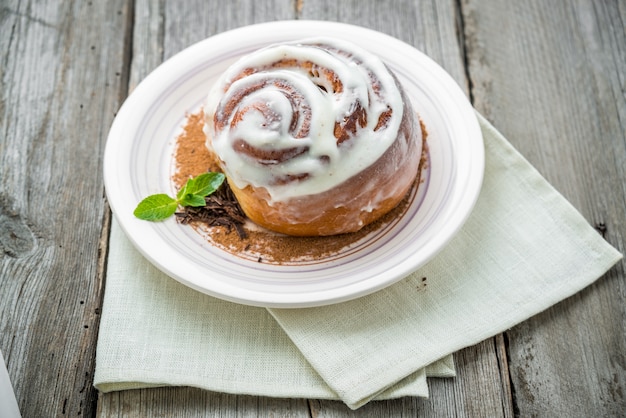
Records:
[[[203,123],[202,111],[188,115],[183,132],[176,139],[175,172],[172,181],[177,189],[180,189],[191,177],[207,171],[221,171],[218,159],[205,146],[206,139],[202,131]],[[422,130],[424,132],[424,151],[420,161],[420,173],[427,160],[426,130],[423,124]],[[419,182],[418,176],[413,187],[417,187]],[[359,241],[375,233],[379,228],[399,219],[406,211],[410,203],[408,196],[412,193],[409,193],[407,198],[394,210],[360,231],[328,237],[287,236],[267,231],[253,224],[250,220],[245,219],[243,212],[236,212],[237,208],[239,211],[241,208],[236,204],[226,182],[214,195],[207,198],[208,209],[185,208],[185,211],[177,213],[179,222],[191,225],[213,245],[238,257],[262,263],[293,264],[337,256],[342,250],[345,251],[354,247]],[[219,202],[216,203],[215,199]],[[231,202],[226,204],[228,209],[224,209],[222,205],[224,200],[228,199],[231,199]],[[206,210],[219,211],[219,213],[212,213],[210,216],[203,215]],[[229,216],[232,219],[228,220]]]

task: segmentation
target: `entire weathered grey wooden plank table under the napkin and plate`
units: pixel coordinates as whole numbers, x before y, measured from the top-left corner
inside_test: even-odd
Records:
[[[231,28],[336,20],[440,63],[474,106],[624,252],[626,3],[580,0],[237,2],[3,0],[0,349],[24,417],[619,416],[624,262],[594,285],[455,356],[431,398],[269,399],[93,388],[110,211],[102,155],[117,109],[164,59]]]

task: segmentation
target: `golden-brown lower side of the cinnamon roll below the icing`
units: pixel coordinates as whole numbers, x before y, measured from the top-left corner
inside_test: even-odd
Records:
[[[420,122],[404,92],[402,96],[404,112],[398,136],[374,164],[331,190],[275,202],[271,206],[265,188],[246,186],[240,189],[229,182],[246,215],[276,232],[319,236],[356,232],[391,211],[417,177],[421,160],[418,144],[426,134],[420,129]],[[375,199],[380,193],[383,196]],[[371,207],[371,202],[378,200],[376,207]]]

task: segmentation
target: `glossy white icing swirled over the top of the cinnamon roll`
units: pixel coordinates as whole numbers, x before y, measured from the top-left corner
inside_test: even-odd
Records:
[[[343,91],[334,93],[323,74],[312,74],[301,65],[275,66],[281,59],[331,69]],[[255,72],[242,77],[249,69]],[[378,80],[378,91],[370,74]],[[242,91],[249,93],[242,96]],[[225,109],[231,101],[238,103],[220,129],[216,120],[228,113]],[[338,144],[335,123],[342,123],[357,103],[367,112],[367,124],[358,126],[356,135]],[[379,117],[389,108],[392,115],[386,126],[375,130]],[[264,187],[273,201],[286,201],[330,190],[376,162],[398,135],[403,101],[394,77],[378,57],[345,41],[314,38],[270,46],[242,57],[213,86],[204,110],[207,147],[222,160],[229,179],[239,188]],[[245,114],[233,121],[238,111]],[[295,127],[290,126],[294,112],[301,113]],[[295,133],[303,127],[306,135],[297,137]],[[271,156],[276,150],[293,151],[294,155],[259,161],[241,152],[241,140]],[[303,173],[308,173],[306,178],[277,181]]]

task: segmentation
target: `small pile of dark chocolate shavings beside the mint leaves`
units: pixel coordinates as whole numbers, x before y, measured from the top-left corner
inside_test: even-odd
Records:
[[[227,182],[224,182],[215,193],[205,197],[204,200],[205,206],[186,206],[181,212],[176,212],[178,222],[183,225],[203,222],[209,226],[224,226],[228,228],[228,232],[234,228],[239,238],[248,237],[243,227],[246,223],[246,215]]]

